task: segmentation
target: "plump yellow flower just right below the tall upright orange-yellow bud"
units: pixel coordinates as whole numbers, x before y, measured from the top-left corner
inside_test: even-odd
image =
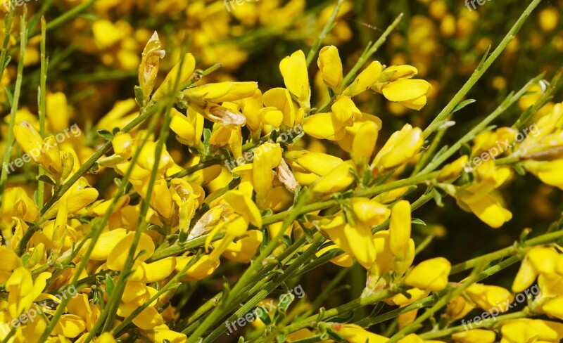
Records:
[[[452,265],[443,257],[427,259],[412,268],[405,277],[405,283],[422,290],[443,290],[448,285]]]

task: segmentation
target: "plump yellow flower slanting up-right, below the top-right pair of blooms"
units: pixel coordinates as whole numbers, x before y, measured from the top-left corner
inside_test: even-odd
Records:
[[[379,169],[391,169],[408,162],[415,156],[424,143],[422,130],[414,129],[405,124],[403,129],[391,135],[379,153],[375,155],[372,165]]]

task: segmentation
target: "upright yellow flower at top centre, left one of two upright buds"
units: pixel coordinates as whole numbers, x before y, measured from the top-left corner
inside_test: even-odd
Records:
[[[305,54],[298,50],[279,63],[281,76],[284,77],[286,88],[297,98],[301,108],[309,109],[311,89]]]

